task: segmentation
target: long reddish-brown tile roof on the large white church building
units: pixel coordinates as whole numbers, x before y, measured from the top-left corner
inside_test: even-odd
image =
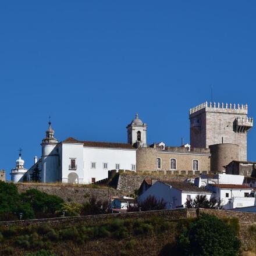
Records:
[[[99,142],[99,141],[80,141],[75,138],[69,137],[62,141],[63,143],[83,143],[84,147],[97,147],[97,148],[126,148],[135,150],[135,148],[127,143],[111,143],[111,142]]]

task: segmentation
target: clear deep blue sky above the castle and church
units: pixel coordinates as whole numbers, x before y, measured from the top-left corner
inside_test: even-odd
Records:
[[[205,100],[256,118],[255,1],[1,1],[0,168],[56,138],[126,141],[139,113],[148,142],[189,142]],[[256,128],[248,158],[256,161]]]

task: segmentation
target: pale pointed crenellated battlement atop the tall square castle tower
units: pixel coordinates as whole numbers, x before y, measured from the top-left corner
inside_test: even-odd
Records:
[[[227,111],[227,112],[229,112],[229,111],[232,111],[232,112],[234,112],[234,111],[237,111],[237,112],[239,112],[239,113],[247,113],[248,112],[248,105],[247,104],[228,104],[228,103],[226,103],[226,104],[224,104],[223,102],[222,103],[216,103],[216,102],[214,102],[213,104],[212,104],[212,102],[207,102],[207,101],[205,101],[204,103],[202,103],[202,104],[200,104],[200,105],[198,105],[198,106],[195,106],[194,108],[190,108],[189,109],[189,113],[190,113],[190,115],[191,114],[193,114],[193,113],[195,113],[195,112],[198,112],[198,111],[201,111],[201,109],[205,109],[205,111],[221,111],[221,112],[223,112],[223,111]]]

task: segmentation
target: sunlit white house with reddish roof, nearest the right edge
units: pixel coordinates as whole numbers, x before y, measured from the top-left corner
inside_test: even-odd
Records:
[[[208,184],[215,198],[222,201],[223,209],[233,209],[255,205],[253,189],[241,184]]]

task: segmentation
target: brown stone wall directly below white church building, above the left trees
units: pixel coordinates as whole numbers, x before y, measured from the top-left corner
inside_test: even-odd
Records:
[[[122,195],[122,191],[115,190],[113,188],[93,188],[90,186],[68,186],[68,185],[47,185],[47,184],[29,184],[29,183],[17,183],[17,188],[20,193],[29,190],[29,189],[37,189],[42,192],[45,192],[50,195],[58,195],[59,197],[63,198],[66,202],[77,202],[79,204],[83,204],[88,200],[91,194],[97,196],[98,200],[108,200],[113,196],[120,196]]]

